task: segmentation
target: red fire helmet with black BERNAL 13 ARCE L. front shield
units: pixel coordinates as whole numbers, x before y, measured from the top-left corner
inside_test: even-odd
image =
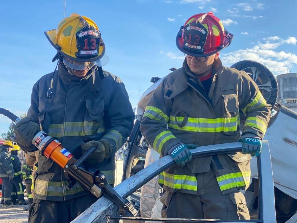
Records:
[[[214,13],[191,16],[181,26],[177,36],[177,48],[191,56],[210,56],[230,45],[233,34],[224,29],[222,21]]]

